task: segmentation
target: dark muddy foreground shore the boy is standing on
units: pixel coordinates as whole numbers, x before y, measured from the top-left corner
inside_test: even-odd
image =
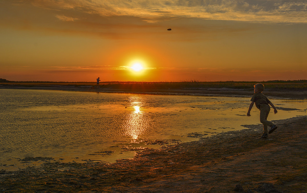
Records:
[[[134,159],[0,171],[0,192],[307,192],[306,116],[137,152]]]

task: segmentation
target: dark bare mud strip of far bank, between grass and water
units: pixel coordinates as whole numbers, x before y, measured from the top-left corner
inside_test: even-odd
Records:
[[[34,90],[62,90],[62,91],[82,91],[98,93],[129,93],[129,94],[147,94],[147,95],[188,95],[188,96],[220,96],[220,97],[251,97],[254,94],[251,89],[233,89],[233,88],[207,88],[207,89],[95,89],[89,86],[74,85],[50,85],[50,86],[21,86],[21,85],[0,85],[0,89],[34,89]],[[300,99],[304,100],[304,91],[265,89],[263,92],[267,97],[280,99]]]

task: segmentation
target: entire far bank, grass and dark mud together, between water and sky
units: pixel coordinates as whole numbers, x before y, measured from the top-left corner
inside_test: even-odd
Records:
[[[5,79],[1,79],[5,80]],[[306,80],[262,81],[265,94],[271,97],[304,99]],[[181,81],[181,82],[49,82],[49,81],[6,81],[0,89],[46,89],[69,91],[92,91],[114,93],[143,93],[166,95],[203,96],[251,96],[258,81]]]

